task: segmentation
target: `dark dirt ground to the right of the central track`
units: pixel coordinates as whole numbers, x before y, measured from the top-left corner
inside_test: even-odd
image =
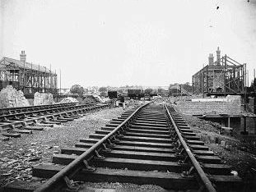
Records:
[[[182,115],[184,120],[199,136],[210,137],[205,144],[216,153],[223,162],[233,167],[234,171],[249,182],[256,179],[256,135],[221,135],[217,123],[204,121],[197,117]],[[225,146],[220,144],[225,141]],[[218,143],[218,144],[216,144]]]

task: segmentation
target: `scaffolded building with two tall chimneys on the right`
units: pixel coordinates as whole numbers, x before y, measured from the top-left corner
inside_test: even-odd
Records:
[[[210,53],[208,65],[192,76],[193,94],[244,94],[246,64],[240,64],[216,50],[216,62]]]

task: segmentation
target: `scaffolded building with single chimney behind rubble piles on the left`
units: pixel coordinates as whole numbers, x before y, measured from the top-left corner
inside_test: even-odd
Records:
[[[2,57],[0,60],[0,89],[7,85],[21,90],[26,96],[40,93],[57,93],[57,74],[45,66],[26,62],[21,51],[20,60]]]

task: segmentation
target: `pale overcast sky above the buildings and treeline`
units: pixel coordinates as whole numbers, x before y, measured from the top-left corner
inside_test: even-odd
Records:
[[[256,0],[0,0],[0,57],[62,71],[71,85],[191,82],[221,48],[256,68]],[[217,9],[217,7],[219,7]]]

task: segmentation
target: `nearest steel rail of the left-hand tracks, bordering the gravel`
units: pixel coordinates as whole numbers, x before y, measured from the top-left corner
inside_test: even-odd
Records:
[[[0,128],[3,129],[4,127],[10,127],[10,126],[15,126],[15,125],[22,126],[25,122],[26,123],[35,122],[35,121],[39,121],[39,120],[44,120],[45,118],[51,118],[53,116],[58,117],[59,115],[68,114],[68,113],[71,113],[71,112],[79,112],[79,111],[83,111],[83,110],[86,110],[86,109],[91,109],[91,108],[95,109],[95,108],[106,107],[106,106],[108,106],[108,105],[105,104],[105,105],[95,105],[95,106],[83,106],[83,107],[79,107],[79,108],[76,108],[76,109],[70,109],[70,110],[63,111],[63,112],[55,112],[53,114],[45,114],[41,117],[29,117],[27,119],[21,119],[21,121],[15,121],[15,122],[14,121],[12,121],[12,122],[1,122],[0,121]],[[74,107],[74,106],[72,106],[72,107]],[[51,109],[49,109],[49,110],[51,110]],[[7,124],[1,124],[1,123],[7,123]]]

